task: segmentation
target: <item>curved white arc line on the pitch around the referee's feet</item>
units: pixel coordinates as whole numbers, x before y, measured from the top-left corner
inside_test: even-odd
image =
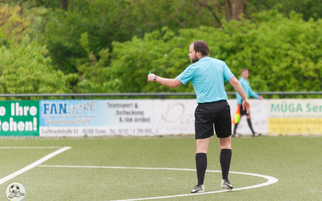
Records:
[[[62,167],[62,168],[112,168],[112,169],[165,169],[165,170],[183,170],[183,171],[196,171],[195,169],[180,169],[180,168],[131,168],[131,167],[109,167],[109,166],[69,166],[69,165],[38,165],[38,167]],[[207,172],[221,172],[218,170],[206,170]],[[243,175],[251,175],[256,177],[266,178],[267,182],[257,184],[254,186],[242,187],[242,188],[233,188],[232,190],[218,190],[218,191],[210,191],[205,193],[191,193],[191,194],[181,194],[181,195],[173,195],[173,196],[160,196],[160,197],[146,197],[146,198],[136,198],[136,199],[126,199],[126,200],[114,200],[114,201],[135,201],[135,200],[149,200],[149,199],[161,199],[161,198],[170,198],[170,197],[182,197],[182,196],[194,196],[194,195],[203,195],[203,194],[212,194],[212,193],[221,193],[226,191],[234,191],[234,190],[244,190],[250,188],[257,188],[262,186],[267,186],[270,184],[274,184],[278,182],[278,179],[275,177],[246,173],[246,172],[233,172],[229,173],[233,174],[243,174]]]

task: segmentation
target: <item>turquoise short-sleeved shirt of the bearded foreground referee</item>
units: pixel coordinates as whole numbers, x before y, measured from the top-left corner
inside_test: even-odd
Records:
[[[183,84],[191,81],[197,95],[197,103],[227,100],[224,81],[234,75],[225,62],[211,57],[203,57],[188,66],[176,78]]]

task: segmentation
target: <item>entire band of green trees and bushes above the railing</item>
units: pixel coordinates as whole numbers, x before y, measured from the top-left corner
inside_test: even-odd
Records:
[[[14,5],[0,5],[3,93],[193,92],[148,83],[147,71],[175,78],[199,39],[236,77],[248,68],[254,90],[321,88],[317,0],[243,0],[239,17],[235,0],[1,2]]]

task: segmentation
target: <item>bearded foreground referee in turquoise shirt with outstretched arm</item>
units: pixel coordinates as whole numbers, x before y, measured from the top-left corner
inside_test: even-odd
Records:
[[[195,109],[195,139],[197,143],[196,170],[198,184],[191,193],[204,192],[204,175],[207,168],[207,151],[209,138],[216,132],[219,139],[220,165],[223,179],[221,187],[232,189],[228,179],[230,161],[232,158],[231,135],[232,120],[230,106],[224,81],[229,82],[242,97],[243,110],[250,110],[247,96],[225,62],[209,57],[209,47],[205,41],[194,41],[189,46],[191,65],[174,79],[161,78],[155,74],[148,74],[148,81],[156,81],[167,87],[178,87],[190,81],[197,95],[198,106]],[[214,128],[214,130],[213,130]]]

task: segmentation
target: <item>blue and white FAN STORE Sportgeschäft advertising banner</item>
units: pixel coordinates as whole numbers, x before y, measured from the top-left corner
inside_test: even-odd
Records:
[[[150,100],[42,100],[40,136],[151,135]]]

